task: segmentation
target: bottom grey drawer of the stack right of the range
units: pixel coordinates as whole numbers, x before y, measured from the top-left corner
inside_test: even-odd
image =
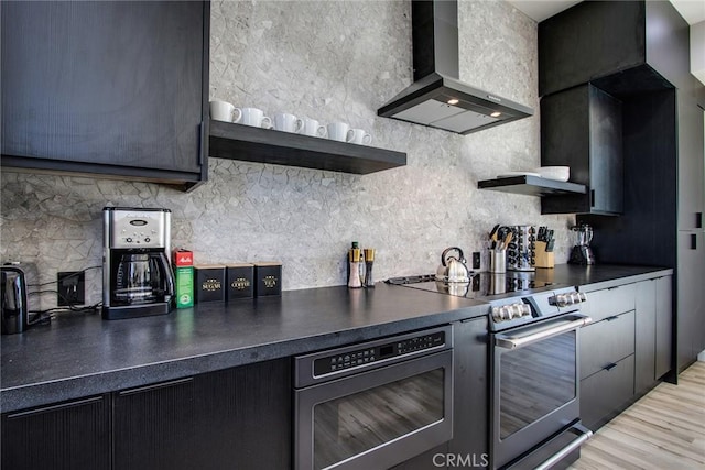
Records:
[[[629,405],[634,393],[634,357],[581,381],[581,419],[592,430]]]

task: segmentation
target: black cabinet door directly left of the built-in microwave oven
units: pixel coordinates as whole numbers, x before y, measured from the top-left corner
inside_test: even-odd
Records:
[[[196,378],[203,470],[291,468],[292,380],[289,359]]]

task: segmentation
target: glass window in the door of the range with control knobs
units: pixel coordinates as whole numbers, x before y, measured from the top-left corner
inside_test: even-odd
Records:
[[[505,439],[576,397],[576,335],[502,352],[499,427]]]

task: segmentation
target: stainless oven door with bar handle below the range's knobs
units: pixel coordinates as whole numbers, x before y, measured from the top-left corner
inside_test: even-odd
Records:
[[[492,467],[502,468],[579,418],[578,329],[568,314],[494,335]]]

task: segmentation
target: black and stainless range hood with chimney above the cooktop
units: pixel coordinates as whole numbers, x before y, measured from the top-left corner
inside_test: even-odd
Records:
[[[378,116],[469,134],[533,114],[458,80],[457,1],[412,0],[411,22],[414,83]]]

